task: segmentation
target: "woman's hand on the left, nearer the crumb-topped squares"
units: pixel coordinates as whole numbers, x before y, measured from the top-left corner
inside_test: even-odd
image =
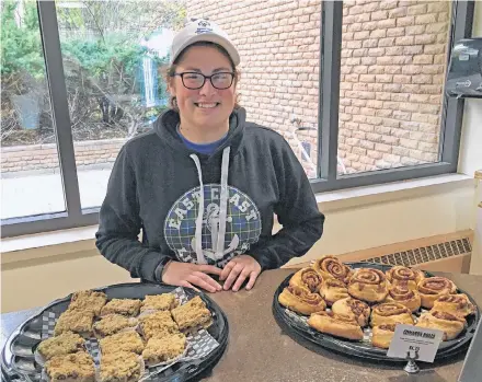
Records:
[[[213,293],[222,290],[222,287],[208,274],[219,276],[221,269],[213,265],[170,262],[162,273],[162,282],[195,290],[199,287]]]

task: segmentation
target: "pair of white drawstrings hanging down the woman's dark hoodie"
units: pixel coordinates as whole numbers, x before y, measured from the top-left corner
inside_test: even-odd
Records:
[[[213,243],[215,248],[215,258],[221,259],[225,256],[225,234],[226,234],[226,219],[228,215],[228,173],[229,173],[229,153],[231,148],[227,147],[222,150],[222,163],[221,163],[221,194],[219,201],[219,230],[218,242]],[[197,255],[197,264],[207,264],[206,257],[203,252],[203,217],[204,217],[204,183],[203,171],[200,169],[200,162],[196,154],[191,154],[191,159],[196,164],[197,176],[199,178],[199,208],[196,218],[196,245],[195,251]]]

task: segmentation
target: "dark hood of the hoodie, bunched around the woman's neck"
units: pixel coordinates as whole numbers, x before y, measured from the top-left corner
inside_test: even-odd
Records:
[[[246,112],[240,107],[234,109],[229,117],[229,131],[226,141],[211,154],[216,155],[225,148],[230,147],[231,155],[236,155],[242,144],[244,134]],[[173,109],[168,109],[159,116],[154,123],[157,136],[171,147],[177,154],[184,153],[186,157],[194,153],[180,139],[176,127],[180,123],[180,115]],[[203,154],[197,154],[203,157]],[[206,155],[205,155],[206,157]]]

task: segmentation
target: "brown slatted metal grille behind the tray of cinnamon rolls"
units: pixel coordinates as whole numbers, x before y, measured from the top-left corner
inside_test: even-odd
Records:
[[[470,241],[468,238],[464,238],[404,252],[391,253],[379,257],[371,257],[366,261],[369,263],[403,265],[409,267],[440,258],[466,255],[471,252]]]

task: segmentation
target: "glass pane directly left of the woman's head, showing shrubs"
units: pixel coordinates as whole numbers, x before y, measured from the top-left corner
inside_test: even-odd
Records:
[[[125,141],[168,106],[162,78],[185,9],[173,1],[57,1],[82,208],[102,204]]]

